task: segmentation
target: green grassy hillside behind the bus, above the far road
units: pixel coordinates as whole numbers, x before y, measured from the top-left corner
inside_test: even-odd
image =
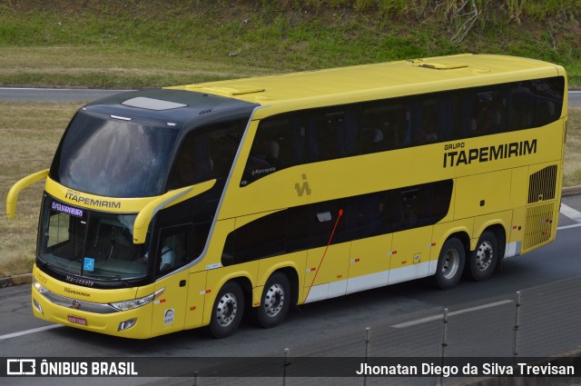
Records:
[[[0,1],[0,84],[145,87],[464,52],[563,64],[581,0]]]

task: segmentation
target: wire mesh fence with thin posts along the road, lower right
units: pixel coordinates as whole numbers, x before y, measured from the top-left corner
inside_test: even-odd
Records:
[[[555,299],[558,299],[556,302]],[[373,359],[446,363],[527,361],[531,358],[568,356],[581,347],[581,280],[551,283],[506,296],[487,298],[454,307],[433,308],[389,318],[365,331],[340,338],[313,341],[281,350],[278,361],[254,361],[256,376],[186,377],[148,382],[148,386],[324,386],[324,385],[581,385],[574,378],[502,378],[471,380],[466,376],[377,377],[345,376],[341,366]],[[575,352],[574,355],[578,356]],[[232,359],[234,361],[235,359]],[[272,366],[277,366],[272,369]],[[328,369],[324,369],[327,366]],[[203,371],[202,371],[203,372]],[[235,370],[234,370],[235,373]],[[325,376],[320,376],[320,374]],[[340,376],[333,376],[333,374]],[[280,374],[280,376],[272,376]],[[329,375],[329,376],[327,376]]]

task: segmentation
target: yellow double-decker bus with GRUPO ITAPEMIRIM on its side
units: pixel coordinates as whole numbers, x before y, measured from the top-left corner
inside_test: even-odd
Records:
[[[566,74],[461,54],[118,94],[46,179],[34,315],[128,338],[263,327],[291,304],[486,280],[551,242]]]

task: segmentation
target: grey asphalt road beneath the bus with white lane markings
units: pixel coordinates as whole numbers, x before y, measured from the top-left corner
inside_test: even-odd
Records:
[[[572,210],[562,208],[561,212],[572,218],[560,216],[556,242],[508,259],[502,272],[487,282],[463,281],[445,292],[422,281],[359,292],[300,306],[286,322],[271,330],[259,329],[245,321],[235,335],[224,340],[214,340],[203,330],[194,330],[130,341],[49,325],[32,316],[30,286],[5,288],[0,290],[0,357],[281,356],[286,348],[294,356],[362,356],[365,329],[370,327],[373,355],[437,358],[441,351],[444,308],[450,312],[448,356],[509,357],[517,291],[522,292],[523,298],[520,355],[540,356],[570,350],[581,346],[581,337],[574,333],[581,322],[578,280],[581,263],[577,253],[581,237],[581,213],[577,211],[581,211],[581,197],[565,197],[563,203]],[[0,384],[2,381],[0,378]],[[74,378],[9,381],[15,385],[79,383]],[[153,381],[132,378],[124,379],[123,384]],[[170,384],[163,382],[151,384]],[[101,378],[83,380],[86,386],[108,383],[111,381]]]

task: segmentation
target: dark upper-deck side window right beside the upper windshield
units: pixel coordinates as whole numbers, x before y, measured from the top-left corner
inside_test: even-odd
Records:
[[[228,176],[246,124],[245,119],[212,124],[188,134],[173,161],[168,190]]]

